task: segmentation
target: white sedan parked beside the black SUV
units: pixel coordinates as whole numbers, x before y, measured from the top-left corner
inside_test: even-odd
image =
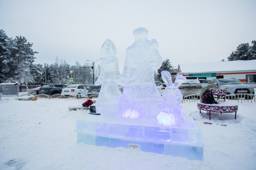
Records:
[[[61,94],[64,96],[70,96],[72,94],[82,94],[84,96],[87,96],[88,88],[82,84],[72,84],[62,89]],[[79,97],[80,95],[77,96],[77,98]]]

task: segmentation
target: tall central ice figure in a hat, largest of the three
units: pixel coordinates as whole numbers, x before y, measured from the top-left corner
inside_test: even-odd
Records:
[[[123,94],[119,100],[119,116],[130,119],[154,119],[160,112],[162,97],[154,82],[154,71],[162,65],[155,39],[149,41],[148,30],[133,31],[135,42],[126,49],[121,74]]]

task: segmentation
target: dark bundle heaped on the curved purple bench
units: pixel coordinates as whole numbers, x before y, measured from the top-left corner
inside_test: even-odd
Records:
[[[218,86],[214,84],[209,84],[208,86],[202,88],[200,92],[200,102],[204,104],[220,104],[214,100],[214,96],[210,91],[211,88],[218,88]]]

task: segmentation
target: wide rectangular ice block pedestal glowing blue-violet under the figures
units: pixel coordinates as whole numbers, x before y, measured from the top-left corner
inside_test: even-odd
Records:
[[[77,121],[77,143],[203,160],[202,132],[192,119],[187,119],[181,127],[167,127],[141,120],[88,115]]]

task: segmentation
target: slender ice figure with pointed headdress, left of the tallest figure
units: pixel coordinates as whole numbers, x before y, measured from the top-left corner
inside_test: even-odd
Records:
[[[118,100],[121,96],[118,88],[120,72],[118,58],[116,57],[116,46],[110,39],[103,43],[101,53],[101,71],[95,84],[102,84],[102,86],[95,103],[96,111],[97,113],[103,113],[104,116],[112,117],[116,114],[116,117],[118,117]]]

